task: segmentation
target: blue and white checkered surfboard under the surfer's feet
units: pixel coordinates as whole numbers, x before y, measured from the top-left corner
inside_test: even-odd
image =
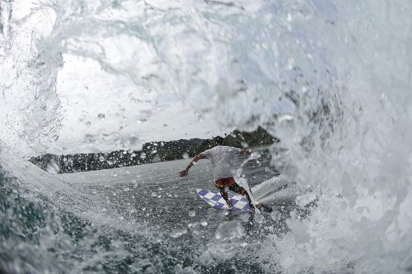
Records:
[[[220,192],[200,188],[196,188],[196,191],[203,200],[209,203],[210,206],[213,206],[214,208],[225,208],[227,210],[229,209],[229,206],[227,206],[227,203],[225,199],[223,199],[222,195],[220,195]],[[251,209],[246,197],[240,195],[231,195],[230,193],[228,193],[227,196],[232,203],[232,210],[249,211]]]

